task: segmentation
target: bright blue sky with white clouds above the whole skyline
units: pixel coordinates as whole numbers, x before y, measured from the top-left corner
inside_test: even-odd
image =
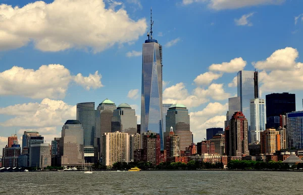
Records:
[[[81,102],[127,103],[139,124],[150,7],[163,103],[188,108],[194,142],[224,127],[239,70],[259,71],[262,98],[295,93],[303,110],[301,0],[0,0],[0,148],[24,130],[50,143]]]

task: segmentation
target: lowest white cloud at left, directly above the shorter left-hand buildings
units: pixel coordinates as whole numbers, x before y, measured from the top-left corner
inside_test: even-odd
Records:
[[[76,118],[76,106],[50,99],[44,99],[41,103],[0,108],[0,114],[7,114],[8,111],[16,117],[0,123],[2,126],[51,127],[63,125],[66,120]]]

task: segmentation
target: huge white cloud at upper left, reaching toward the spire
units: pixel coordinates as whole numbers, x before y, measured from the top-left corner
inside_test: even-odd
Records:
[[[133,42],[147,28],[145,19],[134,21],[123,8],[106,9],[101,0],[37,1],[22,8],[2,4],[0,13],[0,50],[33,41],[41,51],[85,48],[97,53]]]

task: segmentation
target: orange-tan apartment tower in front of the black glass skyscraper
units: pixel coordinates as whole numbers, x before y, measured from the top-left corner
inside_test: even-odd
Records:
[[[261,132],[261,154],[274,154],[281,150],[281,136],[276,129]]]

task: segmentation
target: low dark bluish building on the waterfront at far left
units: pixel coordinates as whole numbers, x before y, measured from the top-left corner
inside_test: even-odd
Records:
[[[12,147],[5,147],[2,153],[3,167],[18,167],[18,157],[21,155],[19,144],[13,144]]]

